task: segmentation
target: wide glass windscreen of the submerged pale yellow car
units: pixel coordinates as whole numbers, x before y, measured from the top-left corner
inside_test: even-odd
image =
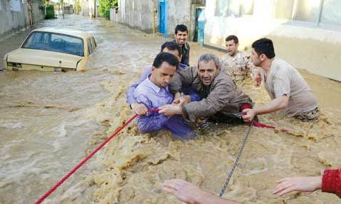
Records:
[[[44,51],[56,51],[84,56],[83,39],[63,34],[52,34],[35,31],[22,46],[25,49],[39,49]]]

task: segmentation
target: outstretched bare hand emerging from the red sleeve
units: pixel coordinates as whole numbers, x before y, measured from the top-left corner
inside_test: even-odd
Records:
[[[321,188],[322,177],[289,177],[277,181],[274,194],[285,195],[292,191],[312,192]]]

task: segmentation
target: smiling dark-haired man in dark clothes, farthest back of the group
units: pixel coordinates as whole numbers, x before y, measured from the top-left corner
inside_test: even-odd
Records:
[[[187,42],[188,29],[187,26],[179,24],[175,26],[174,40],[181,48],[183,54],[180,63],[190,66],[190,45]]]

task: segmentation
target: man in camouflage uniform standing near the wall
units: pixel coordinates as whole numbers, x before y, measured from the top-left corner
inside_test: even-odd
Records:
[[[237,36],[230,35],[225,39],[228,53],[221,58],[222,67],[225,68],[234,81],[243,81],[251,78],[251,71],[255,68],[249,54],[238,51],[239,40]]]

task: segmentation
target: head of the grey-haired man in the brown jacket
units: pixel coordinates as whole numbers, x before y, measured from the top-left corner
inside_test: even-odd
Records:
[[[220,71],[220,61],[212,53],[205,53],[198,60],[198,75],[205,86],[210,86]]]

